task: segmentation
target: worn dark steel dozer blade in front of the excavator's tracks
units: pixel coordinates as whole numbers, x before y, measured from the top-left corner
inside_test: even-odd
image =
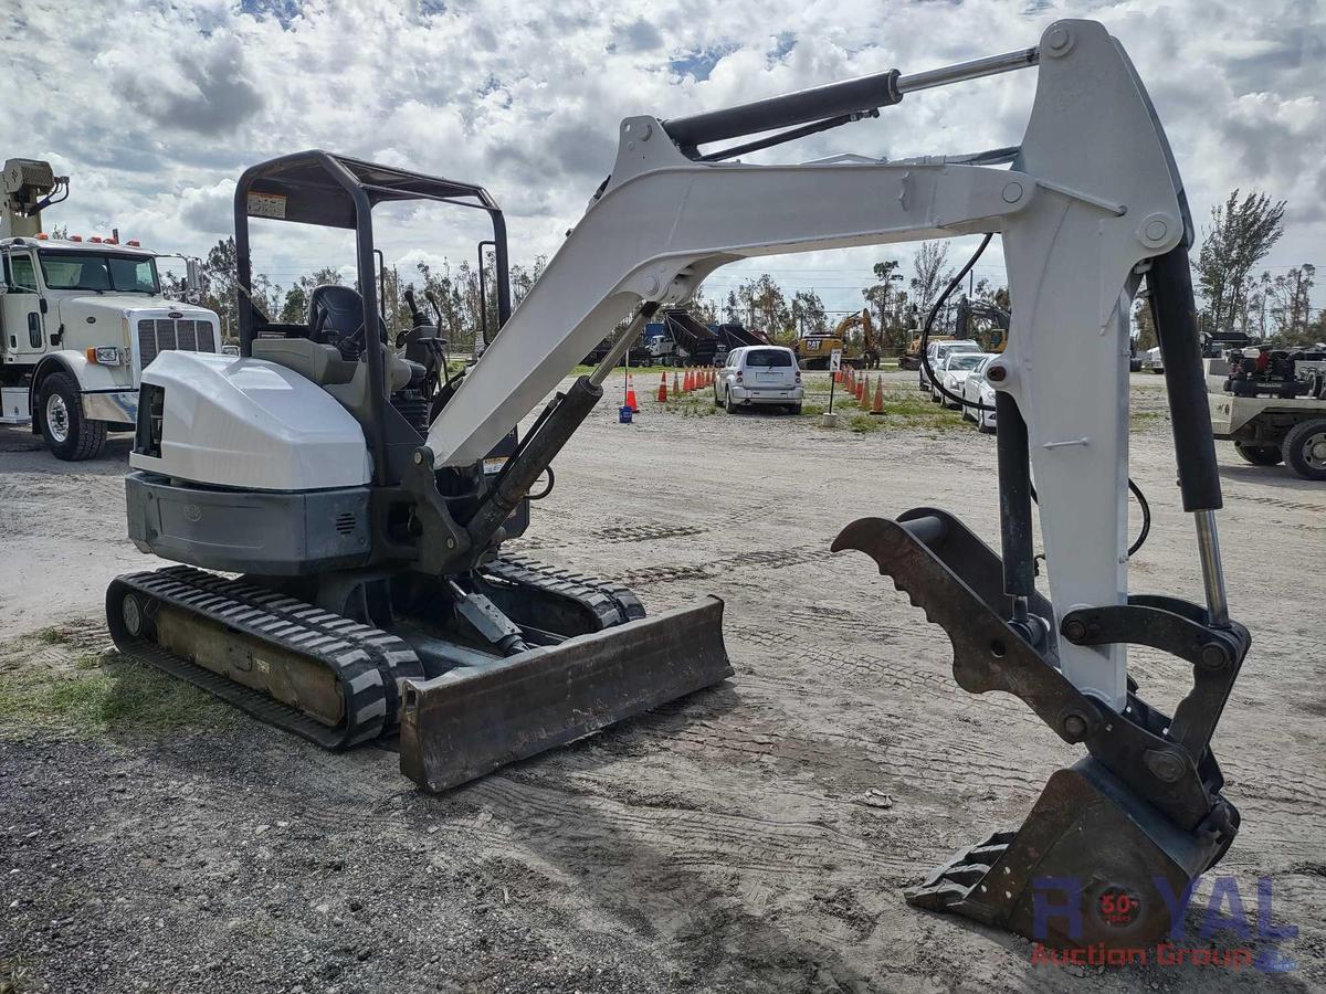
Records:
[[[723,602],[406,681],[400,770],[442,791],[732,676]]]

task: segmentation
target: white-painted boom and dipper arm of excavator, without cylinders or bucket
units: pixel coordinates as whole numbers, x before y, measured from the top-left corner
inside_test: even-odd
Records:
[[[1187,229],[1146,90],[1093,21],[1046,32],[1012,168],[943,158],[699,162],[663,122],[629,118],[610,182],[432,423],[427,445],[439,468],[472,465],[621,318],[646,301],[688,300],[733,260],[1000,232],[1014,318],[998,384],[1029,428],[1052,600],[1122,603],[1127,315],[1138,266],[1180,245]],[[1033,376],[1033,357],[1050,375]],[[1124,706],[1122,645],[1063,645],[1061,665],[1083,692]]]

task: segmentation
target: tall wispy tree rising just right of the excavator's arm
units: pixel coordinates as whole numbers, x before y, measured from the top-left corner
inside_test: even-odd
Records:
[[[1246,330],[1252,270],[1285,233],[1284,219],[1285,201],[1272,203],[1256,191],[1240,200],[1236,188],[1225,203],[1211,208],[1211,227],[1197,256],[1208,330],[1233,329],[1240,322]]]

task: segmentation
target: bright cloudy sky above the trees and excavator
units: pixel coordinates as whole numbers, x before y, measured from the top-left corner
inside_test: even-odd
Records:
[[[73,176],[70,200],[48,224],[115,225],[190,253],[229,231],[233,182],[248,164],[308,147],[381,159],[484,183],[508,211],[520,261],[556,249],[610,170],[617,123],[629,114],[676,117],[1022,48],[1067,13],[1105,21],[1127,46],[1199,228],[1232,187],[1262,188],[1289,200],[1289,229],[1268,264],[1315,261],[1326,270],[1321,4],[1089,0],[1067,11],[1022,0],[678,0],[666,19],[642,1],[544,7],[24,0],[0,15],[0,52],[28,82],[23,113],[0,115],[0,147],[5,156],[50,158]],[[1016,143],[1032,87],[1032,74],[1021,73],[914,94],[879,121],[758,160]],[[471,258],[483,235],[481,219],[443,209],[395,219],[398,227],[385,219],[379,232],[398,265]],[[332,257],[349,250],[341,235],[290,225],[280,236],[257,241],[269,262],[255,258],[278,282],[346,261]],[[979,273],[1001,280],[997,244]],[[769,269],[789,289],[813,286],[830,307],[849,309],[886,254],[908,249],[740,264],[711,278],[711,294]]]

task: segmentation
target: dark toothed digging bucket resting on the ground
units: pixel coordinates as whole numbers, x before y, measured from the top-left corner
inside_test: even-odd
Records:
[[[994,832],[904,896],[1058,949],[1146,949],[1181,925],[1189,884],[1223,848],[1085,758],[1050,777],[1017,832]]]

